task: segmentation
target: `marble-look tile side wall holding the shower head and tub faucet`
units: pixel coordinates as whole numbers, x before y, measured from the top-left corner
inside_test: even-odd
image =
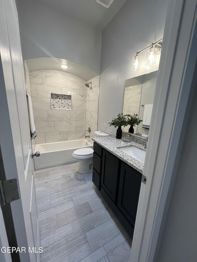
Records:
[[[97,131],[99,76],[87,81],[89,82],[92,82],[92,88],[86,88],[86,130],[90,127],[91,133],[86,131],[86,135],[90,135],[86,139],[93,144],[92,137],[95,137],[94,131]]]

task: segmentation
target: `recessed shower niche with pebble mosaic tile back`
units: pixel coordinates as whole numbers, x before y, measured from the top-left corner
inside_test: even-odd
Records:
[[[51,109],[70,109],[72,110],[72,96],[62,94],[50,94]]]

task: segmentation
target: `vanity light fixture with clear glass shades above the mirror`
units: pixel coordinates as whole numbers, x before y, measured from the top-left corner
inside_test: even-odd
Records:
[[[137,52],[137,55],[133,58],[131,70],[138,71],[140,69],[141,58],[139,57],[139,53],[148,49],[145,70],[149,71],[151,69],[151,66],[156,63],[157,55],[161,53],[162,40],[163,39],[160,39],[159,41],[152,43],[152,45],[149,45],[148,47],[144,48],[143,50]]]

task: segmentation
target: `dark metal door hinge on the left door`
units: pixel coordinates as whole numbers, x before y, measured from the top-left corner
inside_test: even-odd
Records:
[[[17,179],[0,181],[0,196],[2,205],[19,199]]]

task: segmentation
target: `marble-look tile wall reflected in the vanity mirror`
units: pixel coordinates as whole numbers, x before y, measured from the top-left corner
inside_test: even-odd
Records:
[[[125,88],[123,114],[138,114],[141,100],[142,85],[134,85]],[[128,132],[130,126],[122,127],[122,130]],[[134,127],[134,133],[137,132],[137,126]]]

